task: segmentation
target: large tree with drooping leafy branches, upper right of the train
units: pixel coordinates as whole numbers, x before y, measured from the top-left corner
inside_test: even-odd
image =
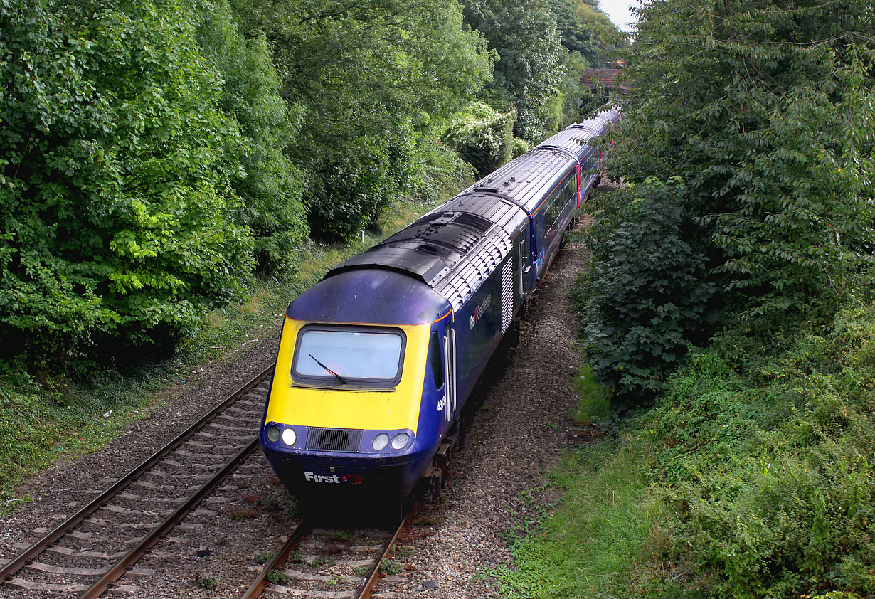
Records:
[[[690,240],[744,317],[829,313],[875,247],[872,5],[665,0],[640,17],[615,172],[683,178]]]

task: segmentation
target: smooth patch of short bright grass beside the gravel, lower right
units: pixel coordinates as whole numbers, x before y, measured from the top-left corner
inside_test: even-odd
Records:
[[[646,451],[629,442],[570,450],[551,474],[563,501],[542,526],[511,534],[514,566],[490,574],[508,597],[633,595],[634,566],[655,527]]]

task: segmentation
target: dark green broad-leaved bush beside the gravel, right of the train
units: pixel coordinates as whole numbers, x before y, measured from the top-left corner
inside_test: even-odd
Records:
[[[609,196],[587,231],[581,337],[598,380],[616,387],[615,408],[652,399],[708,319],[713,289],[684,240],[685,193],[679,179],[648,179]]]

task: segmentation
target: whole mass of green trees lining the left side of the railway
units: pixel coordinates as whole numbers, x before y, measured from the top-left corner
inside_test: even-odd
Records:
[[[0,373],[172,352],[254,277],[293,276],[309,240],[352,239],[434,173],[458,180],[441,140],[459,113],[503,115],[499,136],[453,137],[490,165],[525,147],[504,135],[518,115],[529,141],[579,118],[563,74],[621,41],[605,15],[473,6],[0,0]]]

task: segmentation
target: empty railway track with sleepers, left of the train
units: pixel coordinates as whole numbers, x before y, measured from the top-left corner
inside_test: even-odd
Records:
[[[137,561],[258,448],[258,421],[270,366],[191,427],[140,463],[18,556],[0,564],[0,595],[102,596],[114,589],[140,595],[153,574]],[[4,590],[5,589],[5,590]],[[147,595],[140,595],[147,596]]]

